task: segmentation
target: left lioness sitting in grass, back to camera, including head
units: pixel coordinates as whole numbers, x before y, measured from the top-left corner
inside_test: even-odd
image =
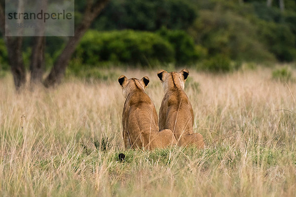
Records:
[[[126,76],[121,75],[118,82],[125,97],[122,112],[125,148],[144,147],[152,150],[177,144],[171,130],[159,131],[155,106],[144,92],[149,83],[149,78],[145,76],[141,80],[127,79]]]

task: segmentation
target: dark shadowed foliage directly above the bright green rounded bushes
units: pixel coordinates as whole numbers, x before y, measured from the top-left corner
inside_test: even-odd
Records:
[[[111,0],[93,28],[100,31],[187,29],[197,12],[183,0]]]

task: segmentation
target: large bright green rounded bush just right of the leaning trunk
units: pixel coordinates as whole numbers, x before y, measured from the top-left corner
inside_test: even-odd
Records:
[[[151,65],[174,61],[171,44],[155,33],[132,30],[96,32],[89,31],[74,53],[82,64],[118,62],[133,65]]]

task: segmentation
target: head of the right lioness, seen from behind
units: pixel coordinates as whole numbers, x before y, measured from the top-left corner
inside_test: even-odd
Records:
[[[188,75],[189,71],[187,69],[183,69],[180,72],[167,72],[165,70],[159,70],[157,72],[157,76],[159,77],[165,91],[172,88],[180,88],[184,90],[185,81]]]

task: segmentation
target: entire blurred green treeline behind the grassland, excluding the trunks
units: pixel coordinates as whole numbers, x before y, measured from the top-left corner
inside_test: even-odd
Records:
[[[233,62],[232,67],[242,62],[292,62],[296,1],[283,2],[284,7],[279,0],[111,0],[82,38],[70,68],[202,63],[205,69],[227,71]],[[75,1],[76,24],[84,3]],[[46,67],[52,66],[66,39],[46,38]],[[31,39],[24,41],[28,65]],[[1,65],[8,68],[1,38],[0,54]]]

